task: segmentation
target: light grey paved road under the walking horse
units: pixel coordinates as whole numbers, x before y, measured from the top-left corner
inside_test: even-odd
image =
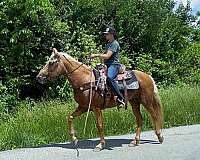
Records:
[[[133,135],[107,137],[107,148],[93,152],[96,139],[79,142],[79,157],[70,143],[0,152],[0,160],[200,160],[200,125],[163,130],[159,144],[153,131],[143,132],[141,144],[128,147]]]

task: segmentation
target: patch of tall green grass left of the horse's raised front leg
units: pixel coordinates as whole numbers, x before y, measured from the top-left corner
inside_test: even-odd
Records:
[[[66,107],[56,101],[34,105],[36,106],[33,107],[30,102],[21,103],[15,116],[10,116],[7,121],[1,123],[0,150],[19,146],[31,147],[66,139],[67,135],[63,133],[66,132],[67,107],[70,105]]]

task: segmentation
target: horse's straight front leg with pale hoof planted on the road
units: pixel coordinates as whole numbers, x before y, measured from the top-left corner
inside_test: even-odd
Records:
[[[93,112],[96,116],[96,126],[100,136],[100,143],[95,147],[94,151],[98,152],[104,149],[105,139],[104,139],[104,128],[103,128],[103,115],[100,108],[93,109]]]

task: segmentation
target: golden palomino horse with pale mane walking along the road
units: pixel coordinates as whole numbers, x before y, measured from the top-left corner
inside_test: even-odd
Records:
[[[161,135],[163,114],[157,87],[150,75],[141,71],[134,72],[140,87],[137,90],[128,90],[128,101],[132,106],[137,122],[136,136],[130,146],[138,145],[140,142],[142,129],[140,104],[142,104],[150,113],[155,128],[155,134],[157,135],[159,142],[162,143],[164,140]],[[78,142],[73,126],[73,119],[80,116],[82,113],[87,112],[90,96],[90,88],[86,90],[80,88],[81,86],[90,83],[90,81],[94,82],[95,77],[91,67],[78,62],[66,53],[58,52],[54,48],[50,59],[37,75],[37,79],[40,83],[45,83],[47,80],[53,80],[60,75],[65,75],[71,83],[74,89],[74,98],[79,104],[78,108],[67,117],[69,133],[72,136],[72,140]],[[106,106],[102,106],[102,104],[104,104],[103,97],[94,89],[92,92],[90,111],[93,111],[96,116],[96,126],[100,136],[100,143],[95,147],[95,151],[100,151],[105,146],[102,110],[117,105],[114,94],[111,94],[111,98]]]

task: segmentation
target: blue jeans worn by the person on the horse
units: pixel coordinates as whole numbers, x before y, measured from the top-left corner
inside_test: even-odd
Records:
[[[107,65],[107,67],[108,67],[107,80],[108,80],[109,86],[111,87],[115,95],[123,100],[124,96],[120,92],[117,82],[115,81],[115,78],[117,77],[117,74],[119,73],[120,64]]]

